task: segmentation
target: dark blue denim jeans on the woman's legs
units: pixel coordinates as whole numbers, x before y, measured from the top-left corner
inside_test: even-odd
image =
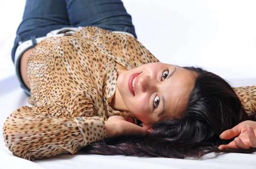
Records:
[[[121,0],[26,0],[12,48],[12,61],[19,42],[35,41],[55,29],[79,26],[125,31],[137,38],[131,15]]]

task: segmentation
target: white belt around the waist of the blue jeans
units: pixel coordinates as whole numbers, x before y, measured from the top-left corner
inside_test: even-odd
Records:
[[[78,28],[61,28],[61,29],[57,29],[57,30],[54,30],[54,31],[50,31],[50,32],[46,35],[46,37],[35,38],[35,41],[36,41],[36,43],[39,43],[40,41],[44,40],[44,39],[47,38],[47,37],[63,37],[64,34],[68,34],[68,33],[73,34],[73,33],[75,33],[76,31],[81,30],[81,28],[83,28],[83,27],[79,26]],[[61,33],[61,31],[67,31],[67,30],[68,30],[68,32]],[[116,33],[116,34],[118,34],[118,33],[127,34],[127,35],[130,35],[130,36],[134,37],[133,34],[130,34],[130,33],[128,33],[128,32],[123,32],[123,31],[112,31],[112,33]],[[15,67],[16,67],[16,65],[17,65],[17,60],[18,60],[18,58],[19,58],[26,50],[28,50],[28,49],[31,48],[32,46],[33,46],[32,40],[27,40],[27,41],[25,41],[25,42],[19,42],[19,45],[18,45],[18,47],[17,47],[17,49],[16,49],[16,51],[15,51],[15,57],[14,57],[14,65],[15,65]]]

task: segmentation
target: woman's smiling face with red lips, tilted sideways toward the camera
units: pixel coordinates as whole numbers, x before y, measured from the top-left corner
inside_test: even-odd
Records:
[[[157,62],[121,73],[116,87],[130,113],[144,124],[155,124],[179,118],[195,76],[185,68]]]

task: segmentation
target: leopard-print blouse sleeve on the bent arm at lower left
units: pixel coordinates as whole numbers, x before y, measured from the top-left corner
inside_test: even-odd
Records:
[[[85,100],[79,94],[67,106],[57,99],[38,107],[20,107],[4,123],[6,146],[13,155],[33,161],[63,152],[75,154],[81,147],[106,138],[103,118],[84,117],[87,109],[92,112]]]

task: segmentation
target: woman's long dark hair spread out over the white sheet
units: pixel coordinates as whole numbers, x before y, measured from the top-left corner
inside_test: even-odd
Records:
[[[201,157],[209,152],[254,152],[255,149],[218,150],[219,135],[249,120],[239,97],[220,76],[202,68],[183,67],[198,74],[186,110],[180,119],[159,122],[147,136],[99,141],[83,148],[87,154],[138,157]]]

